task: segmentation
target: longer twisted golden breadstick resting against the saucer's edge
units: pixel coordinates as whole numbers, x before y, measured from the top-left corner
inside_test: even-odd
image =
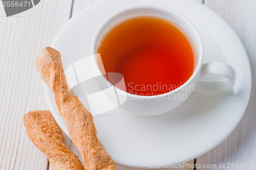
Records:
[[[97,138],[93,116],[77,96],[70,94],[60,53],[44,48],[36,58],[36,68],[42,80],[52,89],[59,113],[70,137],[80,152],[87,170],[117,169],[111,156]]]

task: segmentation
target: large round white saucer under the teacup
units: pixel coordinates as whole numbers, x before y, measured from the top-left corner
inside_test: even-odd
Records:
[[[94,32],[109,15],[134,5],[155,4],[179,11],[198,28],[205,50],[204,63],[222,61],[237,72],[233,88],[220,93],[194,92],[177,109],[158,116],[136,116],[112,110],[95,116],[98,137],[118,164],[148,167],[194,159],[223,141],[237,126],[248,104],[251,70],[237,35],[217,14],[193,1],[109,0],[84,9],[59,32],[52,47],[60,51],[64,69],[90,55]],[[65,133],[51,90],[44,85],[50,110]]]

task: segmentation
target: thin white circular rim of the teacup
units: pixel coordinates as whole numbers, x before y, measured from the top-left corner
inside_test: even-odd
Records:
[[[142,9],[152,9],[152,10],[164,11],[164,12],[171,13],[171,14],[181,18],[183,21],[186,22],[186,25],[189,27],[190,31],[189,31],[188,34],[190,35],[191,34],[190,32],[193,32],[193,34],[194,34],[194,36],[196,37],[196,40],[197,40],[197,42],[195,42],[197,44],[197,46],[198,46],[198,61],[197,61],[196,69],[194,70],[194,72],[190,76],[190,78],[185,83],[183,83],[181,86],[179,86],[178,88],[176,88],[176,89],[174,89],[172,91],[163,93],[163,94],[158,94],[158,95],[137,95],[137,94],[132,94],[132,93],[123,91],[123,90],[121,90],[121,89],[116,87],[116,89],[118,89],[119,92],[121,92],[123,94],[126,94],[126,95],[130,95],[133,98],[144,98],[144,99],[160,98],[160,97],[163,97],[163,96],[170,95],[170,94],[173,94],[175,92],[178,92],[182,88],[184,88],[187,85],[189,85],[189,83],[192,80],[195,79],[197,73],[200,71],[201,66],[202,66],[202,61],[203,61],[203,41],[202,41],[202,38],[201,38],[197,28],[195,27],[195,25],[187,17],[185,17],[183,14],[177,12],[176,10],[173,10],[173,9],[170,9],[170,8],[166,8],[166,7],[163,7],[163,6],[136,5],[136,6],[132,6],[132,7],[123,8],[123,9],[113,13],[109,17],[107,17],[99,25],[99,27],[97,28],[97,30],[96,30],[96,32],[94,33],[94,36],[93,36],[93,40],[92,40],[92,44],[91,44],[91,55],[95,55],[96,54],[97,42],[98,42],[98,39],[99,39],[98,36],[102,32],[102,30],[104,30],[105,25],[107,25],[111,20],[113,20],[115,17],[121,15],[122,13],[129,12],[129,11],[132,11],[132,10],[142,10]],[[93,62],[94,62],[93,64],[94,64],[96,70],[101,73],[101,71],[100,71],[100,69],[99,69],[99,67],[97,65],[96,59],[94,59]],[[106,81],[108,81],[108,80],[106,80]]]

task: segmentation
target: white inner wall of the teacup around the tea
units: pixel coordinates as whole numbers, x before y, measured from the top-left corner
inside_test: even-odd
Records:
[[[185,84],[189,83],[191,79],[194,78],[194,76],[197,74],[197,72],[200,69],[200,66],[202,65],[202,57],[203,57],[203,44],[200,37],[199,32],[185,16],[182,14],[176,12],[175,10],[168,9],[165,7],[152,7],[152,6],[139,6],[139,7],[130,7],[123,10],[120,10],[110,17],[108,17],[106,20],[104,20],[99,28],[96,30],[92,46],[91,46],[91,54],[94,55],[97,53],[97,47],[100,44],[102,38],[108,34],[113,28],[115,28],[119,23],[135,18],[135,17],[157,17],[164,20],[169,21],[174,25],[176,28],[178,28],[187,38],[187,40],[190,43],[190,46],[193,50],[194,55],[194,72],[193,75],[185,82],[183,85],[178,87],[177,89],[170,91],[174,92],[182,88]],[[97,59],[93,61],[93,64],[97,71],[100,71],[99,65],[97,63]],[[167,93],[170,93],[167,92]]]

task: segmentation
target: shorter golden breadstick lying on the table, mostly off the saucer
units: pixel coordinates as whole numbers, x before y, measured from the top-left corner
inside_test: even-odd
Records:
[[[24,115],[26,132],[35,146],[47,155],[53,169],[84,169],[77,156],[68,150],[61,129],[49,110]]]

